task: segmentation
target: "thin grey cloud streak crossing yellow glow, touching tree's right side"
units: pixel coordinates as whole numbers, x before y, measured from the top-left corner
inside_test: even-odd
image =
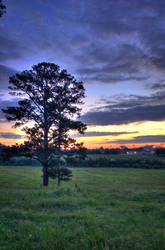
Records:
[[[91,132],[86,132],[84,135],[81,134],[75,134],[73,137],[91,137],[91,136],[118,136],[118,135],[127,135],[127,134],[134,134],[138,133],[138,131],[135,132],[96,132],[96,131],[91,131]]]

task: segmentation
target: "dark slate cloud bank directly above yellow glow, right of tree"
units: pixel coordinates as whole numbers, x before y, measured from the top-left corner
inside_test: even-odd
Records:
[[[112,99],[112,98],[111,98]],[[101,104],[101,103],[100,103]],[[102,105],[81,116],[88,125],[119,125],[141,121],[165,120],[165,92],[152,96],[116,96],[102,99]]]

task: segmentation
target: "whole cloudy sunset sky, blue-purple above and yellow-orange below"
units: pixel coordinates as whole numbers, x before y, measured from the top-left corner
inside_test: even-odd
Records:
[[[164,0],[4,0],[0,108],[17,99],[8,78],[47,61],[84,82],[89,148],[165,143]],[[0,142],[23,142],[0,111]]]

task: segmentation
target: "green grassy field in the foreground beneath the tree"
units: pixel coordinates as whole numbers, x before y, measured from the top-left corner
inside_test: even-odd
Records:
[[[72,171],[58,189],[40,167],[0,167],[0,250],[165,249],[165,170]]]

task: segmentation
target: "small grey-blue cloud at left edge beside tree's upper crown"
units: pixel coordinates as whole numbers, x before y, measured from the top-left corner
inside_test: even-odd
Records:
[[[0,65],[0,92],[8,89],[9,77],[15,73],[16,70]]]

